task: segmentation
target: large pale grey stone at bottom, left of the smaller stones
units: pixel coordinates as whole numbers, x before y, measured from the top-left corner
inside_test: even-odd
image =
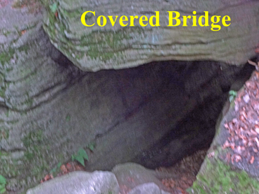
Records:
[[[27,194],[117,194],[119,185],[113,173],[73,172],[44,182],[27,191]]]

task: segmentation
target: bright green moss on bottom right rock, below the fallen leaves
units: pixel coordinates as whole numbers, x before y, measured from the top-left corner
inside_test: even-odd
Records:
[[[259,182],[245,171],[232,171],[220,160],[213,163],[206,159],[206,171],[198,174],[193,183],[194,193],[255,193]]]

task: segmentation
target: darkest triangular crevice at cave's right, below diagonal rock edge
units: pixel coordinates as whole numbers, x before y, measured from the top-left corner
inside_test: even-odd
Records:
[[[207,64],[207,66],[211,66],[211,64]],[[220,66],[218,67],[221,68]],[[200,65],[191,66],[185,74],[191,75],[198,68],[202,67]],[[192,87],[194,89],[190,91],[190,98],[193,96],[202,96],[202,93],[206,93],[204,90],[208,89],[208,86],[213,87],[215,84],[220,86],[221,91],[218,90],[217,92],[215,90],[217,87],[212,88],[212,90],[215,90],[215,93],[206,95],[202,100],[198,99],[198,104],[193,107],[191,113],[180,119],[176,126],[163,135],[147,151],[144,151],[142,155],[137,156],[134,162],[148,168],[157,168],[157,165],[172,166],[186,155],[191,155],[198,150],[209,148],[215,135],[217,119],[222,112],[224,103],[228,101],[229,90],[239,90],[244,82],[249,79],[253,70],[254,68],[248,64],[243,68],[229,67],[232,80],[227,81],[224,79],[229,79],[229,73],[222,72],[217,72],[215,75],[209,77],[208,80],[206,80],[206,77],[196,77],[205,81],[201,81],[200,86],[196,85]],[[189,81],[188,77],[184,77],[183,79],[185,79],[185,83]],[[219,83],[213,83],[215,79]]]

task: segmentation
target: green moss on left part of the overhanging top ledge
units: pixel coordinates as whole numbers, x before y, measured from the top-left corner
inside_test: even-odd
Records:
[[[84,10],[73,10],[68,12],[66,10],[57,10],[61,19],[57,19],[54,14],[48,12],[48,26],[44,25],[44,29],[48,32],[48,35],[52,42],[59,45],[59,50],[65,53],[70,59],[81,59],[83,57],[90,57],[93,60],[108,61],[111,59],[123,58],[123,52],[129,49],[130,45],[124,43],[124,40],[135,39],[137,36],[145,35],[144,29],[140,27],[135,28],[122,28],[117,31],[105,31],[100,30],[91,32],[88,35],[80,37],[80,39],[69,39],[64,35],[64,31],[68,30],[66,23],[62,21],[66,19],[77,18]],[[76,17],[77,16],[77,17]],[[89,14],[90,16],[90,14]],[[64,18],[64,19],[63,19]],[[87,18],[88,19],[88,18]],[[59,26],[57,29],[56,26]],[[146,31],[145,31],[146,32]],[[144,38],[144,37],[143,37]],[[75,41],[75,43],[73,42]],[[80,41],[80,42],[79,42]],[[61,42],[61,43],[59,43]],[[75,51],[75,45],[80,43]],[[72,52],[73,50],[73,52]],[[71,55],[72,53],[72,55]]]

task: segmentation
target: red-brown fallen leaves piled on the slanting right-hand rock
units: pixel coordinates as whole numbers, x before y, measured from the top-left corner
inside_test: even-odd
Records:
[[[253,64],[255,65],[255,64]],[[256,64],[257,65],[257,64]],[[236,117],[224,124],[229,137],[222,148],[231,148],[227,162],[259,162],[259,73],[254,72],[235,100]]]

